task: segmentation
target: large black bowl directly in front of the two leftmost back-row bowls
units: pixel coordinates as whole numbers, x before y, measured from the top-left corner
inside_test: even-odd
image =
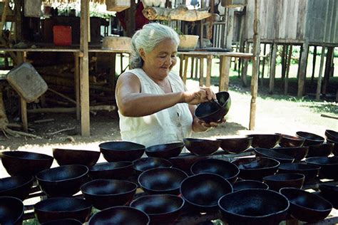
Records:
[[[36,174],[41,191],[48,197],[71,197],[88,181],[88,167],[66,165]]]

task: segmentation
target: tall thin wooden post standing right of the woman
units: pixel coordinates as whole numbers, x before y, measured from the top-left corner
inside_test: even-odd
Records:
[[[254,19],[254,36],[253,36],[252,53],[254,54],[255,57],[252,61],[249,129],[255,130],[258,73],[260,70],[260,0],[255,0],[255,19]]]

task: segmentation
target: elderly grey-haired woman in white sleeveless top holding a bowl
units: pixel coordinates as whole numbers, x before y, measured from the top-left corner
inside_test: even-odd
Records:
[[[132,38],[130,68],[120,75],[116,102],[122,140],[151,145],[182,142],[191,132],[218,124],[194,117],[195,105],[215,98],[210,88],[188,91],[171,72],[179,37],[172,28],[149,23]]]

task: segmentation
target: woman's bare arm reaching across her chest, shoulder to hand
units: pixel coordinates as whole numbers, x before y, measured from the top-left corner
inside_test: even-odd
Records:
[[[116,103],[122,115],[141,117],[170,108],[177,103],[198,104],[213,98],[210,88],[197,91],[166,93],[163,95],[140,93],[141,85],[133,73],[123,73],[116,84]]]

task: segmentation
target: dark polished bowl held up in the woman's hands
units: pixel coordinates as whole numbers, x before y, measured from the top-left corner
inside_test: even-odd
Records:
[[[219,104],[215,101],[200,103],[195,110],[195,117],[206,123],[221,122],[230,110],[231,98],[226,91],[216,93],[216,98]]]

